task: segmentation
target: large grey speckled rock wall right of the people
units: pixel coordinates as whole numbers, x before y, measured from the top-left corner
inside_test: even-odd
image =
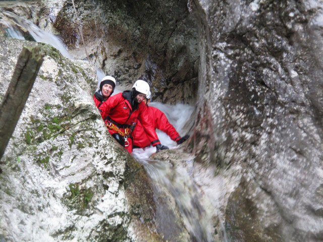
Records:
[[[189,148],[216,175],[241,177],[220,206],[229,239],[321,241],[321,1],[191,6],[200,81]]]

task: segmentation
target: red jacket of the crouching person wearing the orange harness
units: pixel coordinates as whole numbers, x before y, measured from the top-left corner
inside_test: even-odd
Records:
[[[138,119],[150,143],[153,146],[160,144],[156,131],[150,122],[147,107],[144,102],[139,103],[138,108],[132,110],[129,101],[123,97],[123,93],[118,93],[102,102],[99,110],[105,124],[107,123],[106,117],[108,116],[121,125],[133,125]],[[110,134],[116,133],[114,130],[109,130],[109,132]]]

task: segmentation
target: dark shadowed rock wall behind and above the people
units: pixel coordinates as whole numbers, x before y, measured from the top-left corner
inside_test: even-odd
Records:
[[[116,77],[121,89],[143,79],[152,87],[154,100],[194,103],[197,29],[186,0],[88,0],[75,5],[91,62]],[[48,14],[44,11],[42,18]],[[86,58],[70,1],[64,2],[52,23],[72,54]]]

